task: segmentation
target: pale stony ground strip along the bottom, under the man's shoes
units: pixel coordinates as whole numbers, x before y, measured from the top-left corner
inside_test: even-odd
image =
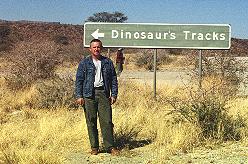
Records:
[[[179,153],[164,159],[157,159],[157,152],[151,151],[149,146],[133,150],[123,150],[119,156],[111,156],[107,153],[90,155],[86,152],[70,154],[65,160],[66,164],[81,163],[162,163],[162,164],[247,164],[248,147],[240,143],[225,143],[217,148],[197,148],[189,153]],[[161,156],[160,156],[161,158]]]

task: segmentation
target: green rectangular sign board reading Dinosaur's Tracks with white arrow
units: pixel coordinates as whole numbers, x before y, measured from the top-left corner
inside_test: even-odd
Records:
[[[229,49],[229,24],[84,24],[84,46],[100,39],[104,47]]]

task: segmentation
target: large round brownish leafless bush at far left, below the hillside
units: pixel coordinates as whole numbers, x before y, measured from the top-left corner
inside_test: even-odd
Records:
[[[32,49],[30,48],[32,47]],[[60,63],[59,55],[52,43],[20,44],[8,57],[11,62],[10,74],[6,77],[6,84],[12,90],[30,87],[39,79],[54,76],[55,66]]]

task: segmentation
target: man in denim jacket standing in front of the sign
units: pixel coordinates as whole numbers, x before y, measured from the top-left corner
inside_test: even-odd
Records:
[[[112,108],[118,94],[118,82],[112,61],[101,55],[102,42],[90,42],[91,56],[83,59],[76,74],[76,103],[83,105],[91,154],[99,153],[97,114],[99,117],[103,144],[112,155],[119,151],[114,147]]]

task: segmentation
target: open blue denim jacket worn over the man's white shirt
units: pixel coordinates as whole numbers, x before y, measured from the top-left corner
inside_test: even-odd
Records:
[[[113,62],[101,56],[101,69],[104,83],[104,90],[107,97],[117,97],[118,82]],[[91,56],[83,59],[77,69],[75,94],[76,98],[94,97],[95,65]],[[111,93],[110,93],[111,91]]]

